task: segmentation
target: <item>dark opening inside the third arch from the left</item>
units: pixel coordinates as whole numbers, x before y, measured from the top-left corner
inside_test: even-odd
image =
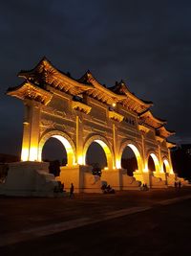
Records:
[[[138,170],[138,160],[135,152],[131,147],[127,146],[121,156],[121,167],[127,170],[127,175],[133,176],[134,172]]]

